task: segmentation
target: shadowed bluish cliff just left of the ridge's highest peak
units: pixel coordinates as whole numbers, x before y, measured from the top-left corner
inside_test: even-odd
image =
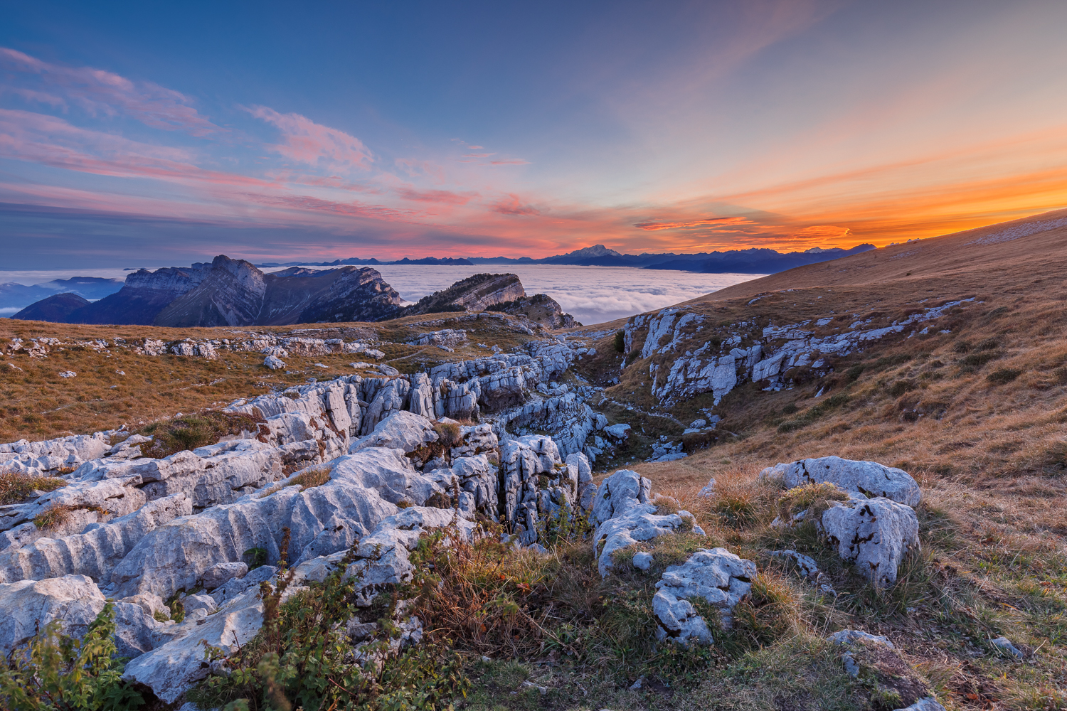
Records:
[[[66,323],[128,323],[149,326],[171,302],[195,289],[211,264],[138,270],[116,293],[71,311]],[[29,308],[29,307],[28,307]]]

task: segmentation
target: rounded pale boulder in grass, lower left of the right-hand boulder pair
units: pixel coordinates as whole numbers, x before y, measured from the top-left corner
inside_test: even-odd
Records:
[[[719,610],[722,626],[730,628],[733,609],[752,591],[755,563],[734,555],[726,548],[701,549],[682,565],[669,566],[656,583],[652,610],[659,618],[656,639],[686,643],[713,642],[706,621],[689,598],[703,598]]]

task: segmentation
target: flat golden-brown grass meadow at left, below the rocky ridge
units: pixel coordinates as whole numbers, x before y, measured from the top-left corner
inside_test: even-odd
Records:
[[[163,341],[185,338],[242,339],[252,333],[274,333],[306,338],[344,338],[346,341],[378,338],[377,345],[388,362],[401,372],[415,372],[440,362],[482,357],[490,353],[477,343],[508,350],[529,340],[507,323],[495,319],[463,321],[461,314],[435,313],[373,324],[302,324],[249,328],[157,328],[154,326],[95,326],[13,321],[0,319],[0,351],[15,338],[58,338],[66,343],[115,338],[140,344],[145,338]],[[455,353],[436,346],[413,346],[402,341],[417,334],[442,328],[471,330],[466,345]],[[395,342],[394,342],[395,341]],[[220,352],[216,360],[177,355],[143,356],[123,348],[96,351],[67,345],[52,349],[46,358],[26,354],[0,358],[0,441],[19,438],[46,439],[117,429],[137,430],[177,413],[200,413],[223,406],[237,398],[249,398],[272,389],[285,389],[315,377],[325,379],[355,371],[349,365],[367,360],[359,354],[300,355],[284,360],[286,371],[262,366],[258,353]],[[322,363],[320,368],[316,363]],[[74,371],[76,377],[59,373]],[[120,374],[123,371],[125,374]],[[287,372],[288,371],[288,372]]]

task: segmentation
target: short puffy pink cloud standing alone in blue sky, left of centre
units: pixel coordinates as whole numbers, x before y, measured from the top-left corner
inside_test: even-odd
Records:
[[[373,160],[370,150],[354,135],[316,124],[306,116],[281,114],[267,107],[252,107],[248,111],[282,131],[284,143],[272,148],[289,160],[329,169],[366,169]]]

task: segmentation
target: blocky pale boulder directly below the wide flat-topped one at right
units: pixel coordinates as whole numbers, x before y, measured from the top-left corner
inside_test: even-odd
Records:
[[[919,548],[914,510],[882,497],[831,502],[821,523],[838,554],[876,587],[895,583],[905,553]]]

